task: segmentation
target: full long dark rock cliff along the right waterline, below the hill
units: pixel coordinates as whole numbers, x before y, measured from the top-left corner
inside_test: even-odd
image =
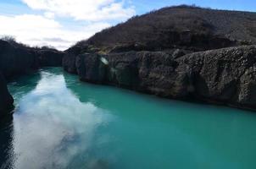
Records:
[[[74,51],[64,69],[86,82],[117,85],[167,98],[256,109],[256,46],[186,52]]]

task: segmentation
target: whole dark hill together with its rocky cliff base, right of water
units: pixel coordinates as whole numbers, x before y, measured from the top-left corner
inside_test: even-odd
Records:
[[[65,52],[86,82],[256,109],[256,14],[179,6],[129,19]]]

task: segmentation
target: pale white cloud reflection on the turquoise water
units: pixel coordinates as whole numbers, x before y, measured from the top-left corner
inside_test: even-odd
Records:
[[[97,126],[109,122],[107,112],[90,102],[81,103],[66,88],[63,75],[48,72],[42,72],[36,88],[18,105],[11,143],[14,168],[65,168],[92,147]],[[8,139],[12,132],[1,134]],[[94,159],[89,163],[98,165]]]

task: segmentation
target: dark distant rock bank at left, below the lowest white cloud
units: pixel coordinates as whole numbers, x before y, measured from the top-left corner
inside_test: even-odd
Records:
[[[41,67],[62,66],[64,52],[14,45],[0,40],[0,71],[4,77],[26,74]]]

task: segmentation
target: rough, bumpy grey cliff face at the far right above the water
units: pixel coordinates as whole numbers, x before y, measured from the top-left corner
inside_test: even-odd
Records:
[[[239,46],[197,52],[181,57],[192,74],[194,95],[209,101],[253,107],[256,46]]]

